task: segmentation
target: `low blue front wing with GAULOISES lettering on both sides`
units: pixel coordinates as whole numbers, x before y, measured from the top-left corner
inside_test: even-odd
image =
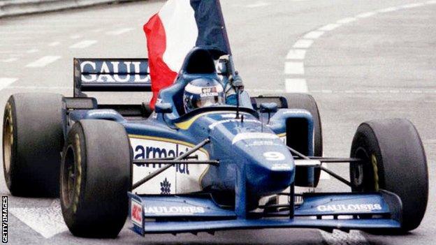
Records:
[[[245,217],[220,207],[209,194],[136,195],[129,193],[132,230],[146,233],[215,232],[258,228],[368,230],[401,227],[402,203],[388,191],[305,193],[289,209],[252,211]],[[266,210],[266,209],[265,209]],[[272,218],[274,217],[274,218]]]

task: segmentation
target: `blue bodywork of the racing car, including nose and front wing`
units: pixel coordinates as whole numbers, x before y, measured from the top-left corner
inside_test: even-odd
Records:
[[[203,191],[180,195],[129,193],[133,230],[145,233],[212,232],[252,228],[400,228],[401,200],[386,191],[377,193],[306,193],[289,207],[259,211],[259,199],[282,193],[293,186],[296,165],[284,135],[307,131],[307,152],[313,156],[313,119],[306,110],[279,109],[271,114],[253,107],[247,92],[234,105],[199,108],[184,114],[184,86],[197,77],[219,78],[215,72],[191,68],[192,57],[205,55],[194,50],[188,55],[175,83],[159,94],[159,103],[170,103],[170,113],[153,112],[148,118],[123,117],[116,110],[72,110],[70,121],[106,119],[117,121],[129,135],[165,138],[196,145],[210,139],[201,150],[219,165],[211,165],[200,180]],[[208,66],[208,60],[204,66]],[[213,62],[213,61],[212,61]],[[206,69],[208,70],[208,69]],[[210,70],[210,69],[209,69]],[[78,91],[80,94],[80,91]],[[240,118],[236,118],[239,110]],[[304,119],[305,128],[286,128],[286,121]],[[311,168],[311,167],[308,167]],[[313,168],[313,167],[312,167]],[[310,173],[310,171],[309,171]],[[313,175],[307,175],[313,179]],[[224,193],[231,205],[223,205],[214,193]],[[222,196],[222,195],[221,195]],[[275,218],[271,218],[275,217]]]

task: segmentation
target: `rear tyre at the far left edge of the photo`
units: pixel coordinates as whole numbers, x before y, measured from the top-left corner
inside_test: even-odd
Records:
[[[64,145],[60,94],[14,94],[3,116],[3,172],[12,195],[57,197]]]

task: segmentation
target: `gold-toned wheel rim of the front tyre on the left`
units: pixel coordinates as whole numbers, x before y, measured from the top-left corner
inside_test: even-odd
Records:
[[[66,154],[64,158],[64,171],[62,172],[62,192],[61,198],[64,205],[67,207],[73,202],[73,195],[75,192],[75,182],[76,182],[76,169],[75,169],[75,151],[70,145],[66,149]]]

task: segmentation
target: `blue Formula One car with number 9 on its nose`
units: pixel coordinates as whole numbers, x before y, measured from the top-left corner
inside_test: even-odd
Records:
[[[326,158],[317,103],[308,94],[250,98],[238,87],[237,105],[185,113],[185,85],[198,77],[231,82],[228,64],[194,49],[154,111],[145,103],[101,105],[84,94],[150,91],[147,59],[75,59],[73,97],[10,96],[3,119],[10,193],[60,193],[66,225],[81,237],[116,237],[127,216],[139,235],[419,226],[428,172],[410,121],[365,122],[350,158]],[[350,180],[324,163],[349,164]],[[351,191],[296,193],[296,186],[316,187],[321,171]]]

